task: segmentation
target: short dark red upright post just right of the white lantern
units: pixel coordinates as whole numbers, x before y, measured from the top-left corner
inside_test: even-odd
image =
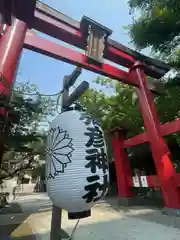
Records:
[[[132,186],[129,179],[132,178],[132,171],[128,155],[124,150],[124,132],[119,129],[111,131],[114,161],[116,167],[116,178],[118,186],[118,197],[130,199],[133,197]]]

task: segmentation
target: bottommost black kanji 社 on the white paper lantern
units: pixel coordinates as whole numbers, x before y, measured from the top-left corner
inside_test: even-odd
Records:
[[[87,177],[87,181],[90,183],[89,185],[85,186],[85,190],[88,191],[87,194],[83,196],[83,199],[86,200],[87,203],[90,202],[97,202],[103,197],[106,193],[107,187],[108,187],[108,175],[103,176],[103,183],[100,184],[97,182],[100,177],[98,175],[93,175],[90,177]],[[98,196],[97,190],[101,191],[100,196]]]

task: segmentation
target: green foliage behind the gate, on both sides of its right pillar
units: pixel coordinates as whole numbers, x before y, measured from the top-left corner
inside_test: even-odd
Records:
[[[120,82],[107,78],[97,78],[96,83],[107,88],[112,94],[101,90],[89,89],[79,100],[79,103],[94,118],[101,121],[106,133],[109,147],[109,158],[113,156],[109,130],[119,127],[127,131],[127,138],[144,132],[144,124],[139,108],[135,89]],[[162,123],[180,117],[180,91],[179,86],[165,84],[163,95],[155,96],[155,103]],[[179,135],[175,134],[167,139],[169,142],[179,142]],[[132,166],[153,169],[151,152],[147,145],[139,145],[128,149]],[[144,159],[148,161],[144,161]]]

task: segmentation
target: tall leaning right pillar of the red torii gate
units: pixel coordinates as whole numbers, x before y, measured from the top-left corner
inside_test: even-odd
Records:
[[[168,146],[160,134],[160,121],[153,96],[148,89],[148,80],[144,73],[143,64],[140,62],[135,63],[129,72],[129,77],[135,78],[139,83],[137,95],[160,181],[165,207],[180,209],[180,191],[175,180],[176,171],[170,159]]]

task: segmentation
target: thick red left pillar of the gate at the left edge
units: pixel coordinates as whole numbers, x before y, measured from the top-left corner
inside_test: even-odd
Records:
[[[14,19],[12,26],[6,29],[5,34],[0,40],[0,97],[5,97],[4,101],[8,101],[11,97],[26,31],[27,24],[18,19]],[[6,114],[7,110],[1,108],[0,115],[4,116]],[[2,122],[2,125],[3,124]],[[3,127],[2,125],[1,127]],[[2,131],[2,129],[4,128],[0,130]],[[2,134],[4,135],[6,133],[1,132],[0,164],[2,163],[4,149]]]

